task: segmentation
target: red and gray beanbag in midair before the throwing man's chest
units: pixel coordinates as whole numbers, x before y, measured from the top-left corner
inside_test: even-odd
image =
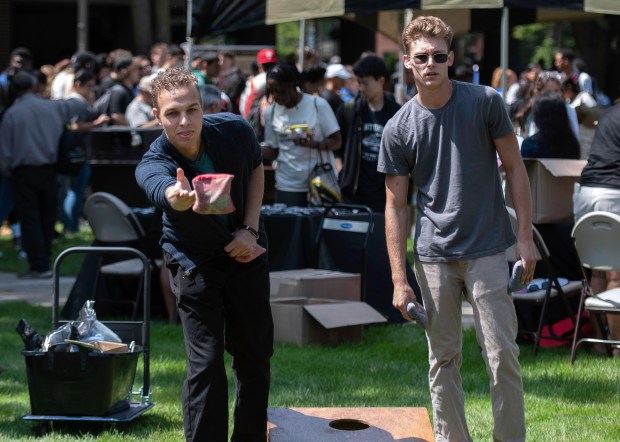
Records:
[[[192,210],[201,215],[224,215],[235,211],[230,196],[230,185],[234,175],[207,173],[192,180],[196,201]]]

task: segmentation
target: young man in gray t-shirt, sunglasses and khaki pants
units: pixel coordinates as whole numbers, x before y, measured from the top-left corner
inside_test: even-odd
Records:
[[[428,314],[429,383],[438,441],[471,440],[465,420],[461,365],[461,294],[474,310],[478,343],[491,375],[496,440],[524,440],[523,385],[515,343],[517,319],[507,292],[505,250],[514,244],[497,170],[512,189],[522,282],[531,281],[528,177],[502,98],[491,88],[450,81],[452,30],[418,17],[403,32],[404,65],[418,94],[385,126],[378,170],[386,173],[388,252],[393,305],[408,318],[415,302],[407,283],[407,185],[418,188],[415,272]]]

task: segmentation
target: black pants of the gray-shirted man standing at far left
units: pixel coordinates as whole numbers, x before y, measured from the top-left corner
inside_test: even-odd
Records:
[[[11,171],[15,216],[30,270],[50,269],[58,191],[54,166],[22,166]]]

